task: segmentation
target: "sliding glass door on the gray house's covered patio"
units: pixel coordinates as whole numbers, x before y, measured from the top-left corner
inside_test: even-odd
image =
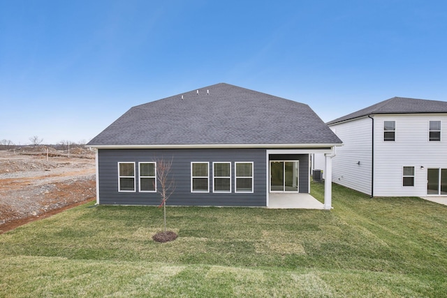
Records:
[[[298,161],[270,161],[270,191],[298,192]]]

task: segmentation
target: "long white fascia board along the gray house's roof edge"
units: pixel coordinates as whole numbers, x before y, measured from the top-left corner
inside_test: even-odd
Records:
[[[212,148],[305,148],[306,152],[312,149],[328,149],[342,146],[342,144],[130,144],[130,145],[88,145],[96,149],[212,149]],[[321,153],[321,151],[318,151]]]

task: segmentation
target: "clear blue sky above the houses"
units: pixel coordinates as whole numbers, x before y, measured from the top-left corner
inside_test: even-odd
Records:
[[[447,100],[447,1],[0,0],[0,140],[89,141],[134,105],[226,82],[330,121]]]

